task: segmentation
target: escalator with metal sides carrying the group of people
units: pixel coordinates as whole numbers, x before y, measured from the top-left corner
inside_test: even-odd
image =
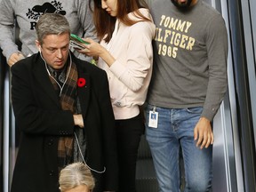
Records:
[[[161,1],[161,0],[159,0]],[[213,192],[256,191],[255,0],[204,0],[221,12],[228,28],[228,92],[213,121]],[[2,52],[1,52],[2,53]],[[10,102],[9,67],[0,56],[0,191],[8,192],[17,151]],[[181,167],[182,169],[182,167]],[[184,180],[183,180],[184,182]],[[142,136],[138,192],[156,192],[148,143]],[[184,184],[184,183],[183,183]]]

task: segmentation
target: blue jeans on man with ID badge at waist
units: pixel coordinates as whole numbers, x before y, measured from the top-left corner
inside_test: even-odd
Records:
[[[146,137],[152,153],[160,191],[180,191],[180,148],[185,168],[185,191],[203,192],[212,188],[212,145],[197,148],[194,127],[203,108],[158,108],[157,128],[148,127],[149,110],[146,113]]]

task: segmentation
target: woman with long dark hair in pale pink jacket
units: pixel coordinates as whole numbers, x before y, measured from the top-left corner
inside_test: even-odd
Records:
[[[83,52],[99,58],[108,74],[116,119],[119,191],[135,191],[135,172],[144,124],[140,106],[152,73],[155,24],[147,4],[139,0],[93,0],[93,20],[100,44],[84,39]]]

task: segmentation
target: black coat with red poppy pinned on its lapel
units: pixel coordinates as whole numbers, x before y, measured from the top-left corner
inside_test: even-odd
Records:
[[[73,55],[72,60],[78,77],[86,80],[77,92],[87,135],[87,164],[98,171],[107,169],[103,174],[92,172],[97,191],[116,190],[116,132],[107,75]],[[74,120],[70,111],[61,109],[39,53],[12,67],[12,105],[21,139],[11,191],[59,191],[58,140],[73,135]]]

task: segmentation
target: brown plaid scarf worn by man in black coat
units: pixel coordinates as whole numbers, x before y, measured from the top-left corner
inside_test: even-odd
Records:
[[[53,87],[58,95],[60,95],[60,105],[62,110],[70,110],[73,114],[76,113],[76,82],[77,82],[77,68],[76,64],[71,63],[71,68],[68,73],[69,66],[67,68],[67,81],[66,83],[60,86],[56,83],[58,79],[52,78],[50,76],[50,80],[53,84]],[[65,73],[65,70],[63,70]],[[73,136],[70,137],[60,137],[58,144],[58,166],[59,171],[65,165],[72,163],[72,155],[73,155]]]

